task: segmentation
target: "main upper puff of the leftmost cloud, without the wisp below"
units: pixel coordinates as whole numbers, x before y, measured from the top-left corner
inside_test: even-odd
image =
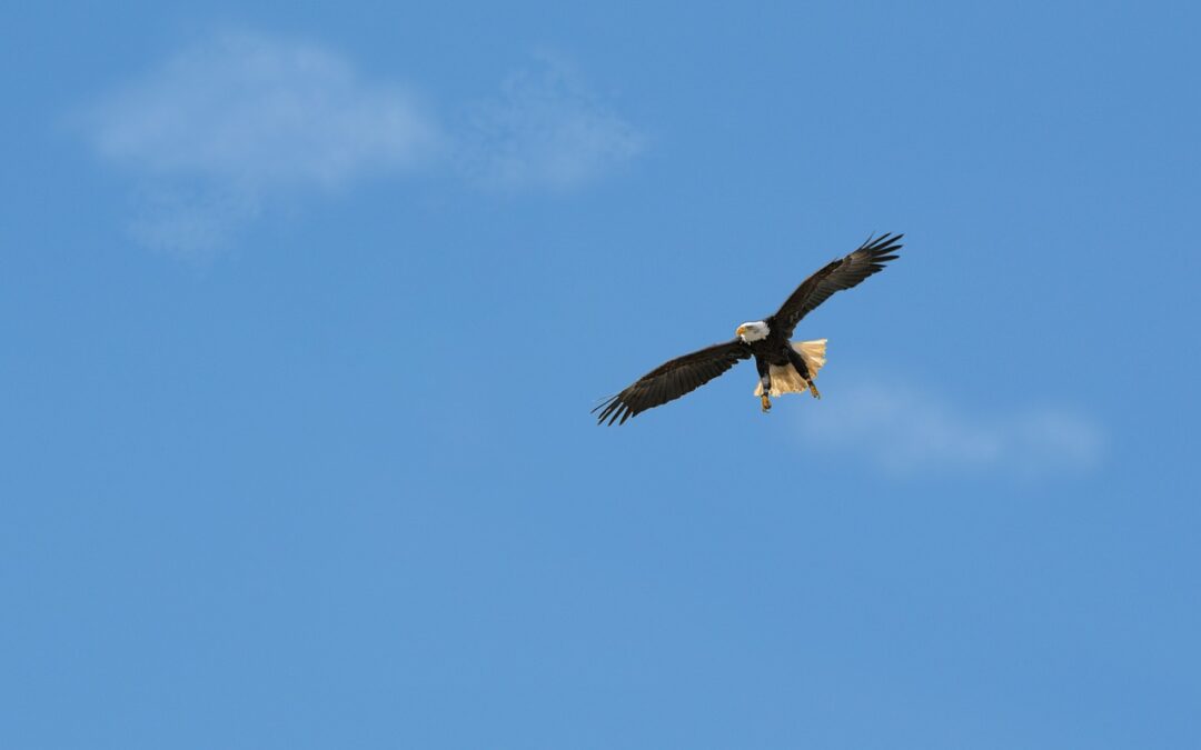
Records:
[[[335,187],[407,169],[438,142],[398,86],[363,82],[318,47],[247,34],[183,52],[91,120],[96,149],[116,163],[243,191]]]

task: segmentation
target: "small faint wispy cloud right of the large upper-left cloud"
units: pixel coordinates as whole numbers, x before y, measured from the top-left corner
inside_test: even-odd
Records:
[[[473,108],[459,161],[489,187],[572,188],[620,167],[645,143],[567,65],[544,56]]]

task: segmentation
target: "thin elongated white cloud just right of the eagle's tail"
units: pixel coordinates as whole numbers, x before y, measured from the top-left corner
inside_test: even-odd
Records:
[[[894,475],[1080,473],[1100,463],[1105,445],[1097,424],[1068,409],[987,413],[906,385],[841,385],[820,407],[806,409],[807,443],[854,452]]]

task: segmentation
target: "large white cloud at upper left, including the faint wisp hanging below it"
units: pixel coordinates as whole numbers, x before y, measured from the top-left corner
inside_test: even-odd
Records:
[[[138,179],[130,233],[203,258],[283,197],[413,172],[443,149],[401,86],[301,42],[226,34],[185,49],[84,118],[97,154]]]

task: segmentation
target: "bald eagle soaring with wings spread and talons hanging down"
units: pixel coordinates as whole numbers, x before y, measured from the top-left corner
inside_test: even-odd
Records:
[[[697,390],[740,360],[754,358],[759,370],[759,396],[764,413],[771,410],[771,396],[809,391],[820,398],[813,383],[825,365],[825,338],[793,343],[793,329],[801,318],[839,289],[850,289],[897,259],[902,234],[868,238],[846,258],[831,262],[809,276],[784,300],[776,314],[743,323],[736,338],[706,347],[659,365],[616,396],[605,400],[592,413],[600,412],[597,424],[625,424],[631,416],[674,401]]]

